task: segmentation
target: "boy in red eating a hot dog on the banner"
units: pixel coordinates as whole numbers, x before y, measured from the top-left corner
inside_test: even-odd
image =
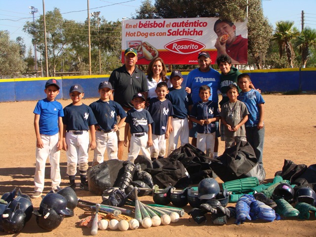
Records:
[[[236,36],[236,26],[228,20],[217,20],[214,23],[214,32],[217,35],[215,48],[217,57],[228,54],[233,64],[247,63],[248,39]]]

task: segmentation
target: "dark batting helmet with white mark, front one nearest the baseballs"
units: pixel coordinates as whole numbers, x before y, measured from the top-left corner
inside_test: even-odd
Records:
[[[58,214],[52,208],[44,209],[42,214],[39,211],[33,211],[33,214],[36,215],[39,227],[47,231],[56,229],[64,219],[64,215]]]

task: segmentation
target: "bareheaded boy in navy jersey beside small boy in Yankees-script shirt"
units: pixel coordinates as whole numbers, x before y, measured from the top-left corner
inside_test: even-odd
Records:
[[[152,98],[148,111],[154,122],[152,123],[153,146],[150,147],[152,160],[163,158],[166,153],[166,139],[169,138],[172,104],[165,97],[169,93],[166,82],[159,82],[156,87],[157,98]]]

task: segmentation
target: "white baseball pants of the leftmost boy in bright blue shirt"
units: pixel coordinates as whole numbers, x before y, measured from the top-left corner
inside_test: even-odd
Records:
[[[54,190],[61,183],[59,159],[60,151],[57,149],[58,133],[52,136],[40,135],[43,148],[36,148],[36,168],[34,175],[35,192],[43,192],[45,182],[45,164],[47,158],[50,163],[51,188]]]

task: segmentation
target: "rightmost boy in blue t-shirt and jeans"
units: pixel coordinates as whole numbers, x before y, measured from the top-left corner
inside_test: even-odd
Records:
[[[257,90],[249,88],[251,79],[248,74],[240,74],[237,80],[239,88],[241,89],[238,100],[246,104],[249,112],[248,120],[245,123],[247,141],[255,151],[258,163],[262,164],[263,143],[265,138],[263,105],[265,101]]]

